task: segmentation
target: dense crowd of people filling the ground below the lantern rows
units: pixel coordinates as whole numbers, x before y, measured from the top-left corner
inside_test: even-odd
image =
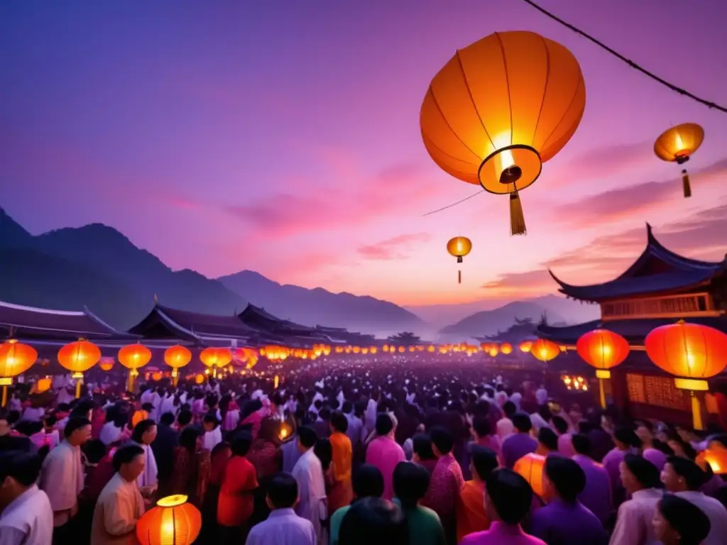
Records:
[[[723,430],[487,373],[337,358],[277,387],[21,384],[0,413],[0,545],[136,544],[175,494],[202,514],[199,544],[727,545],[726,483],[695,461]]]

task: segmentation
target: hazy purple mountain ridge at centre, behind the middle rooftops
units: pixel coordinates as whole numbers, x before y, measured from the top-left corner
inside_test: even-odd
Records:
[[[419,326],[422,320],[397,305],[370,296],[334,294],[324,288],[279,284],[260,273],[244,270],[217,278],[223,286],[252,304],[264,306],[279,318],[307,326],[346,324],[366,332],[398,331]]]

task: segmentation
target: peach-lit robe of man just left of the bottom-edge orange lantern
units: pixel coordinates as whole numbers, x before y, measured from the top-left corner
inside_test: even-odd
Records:
[[[137,483],[119,473],[103,487],[93,512],[91,545],[137,544],[136,523],[144,514],[144,499]]]

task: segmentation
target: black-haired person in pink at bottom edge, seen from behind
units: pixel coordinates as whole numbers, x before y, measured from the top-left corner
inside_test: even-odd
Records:
[[[512,469],[497,469],[485,486],[485,511],[489,530],[470,533],[459,545],[546,545],[523,531],[521,522],[530,512],[533,491]]]

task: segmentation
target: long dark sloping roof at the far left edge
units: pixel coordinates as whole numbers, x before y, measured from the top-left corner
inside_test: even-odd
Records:
[[[0,302],[0,335],[22,339],[129,339],[84,308],[51,310]]]

